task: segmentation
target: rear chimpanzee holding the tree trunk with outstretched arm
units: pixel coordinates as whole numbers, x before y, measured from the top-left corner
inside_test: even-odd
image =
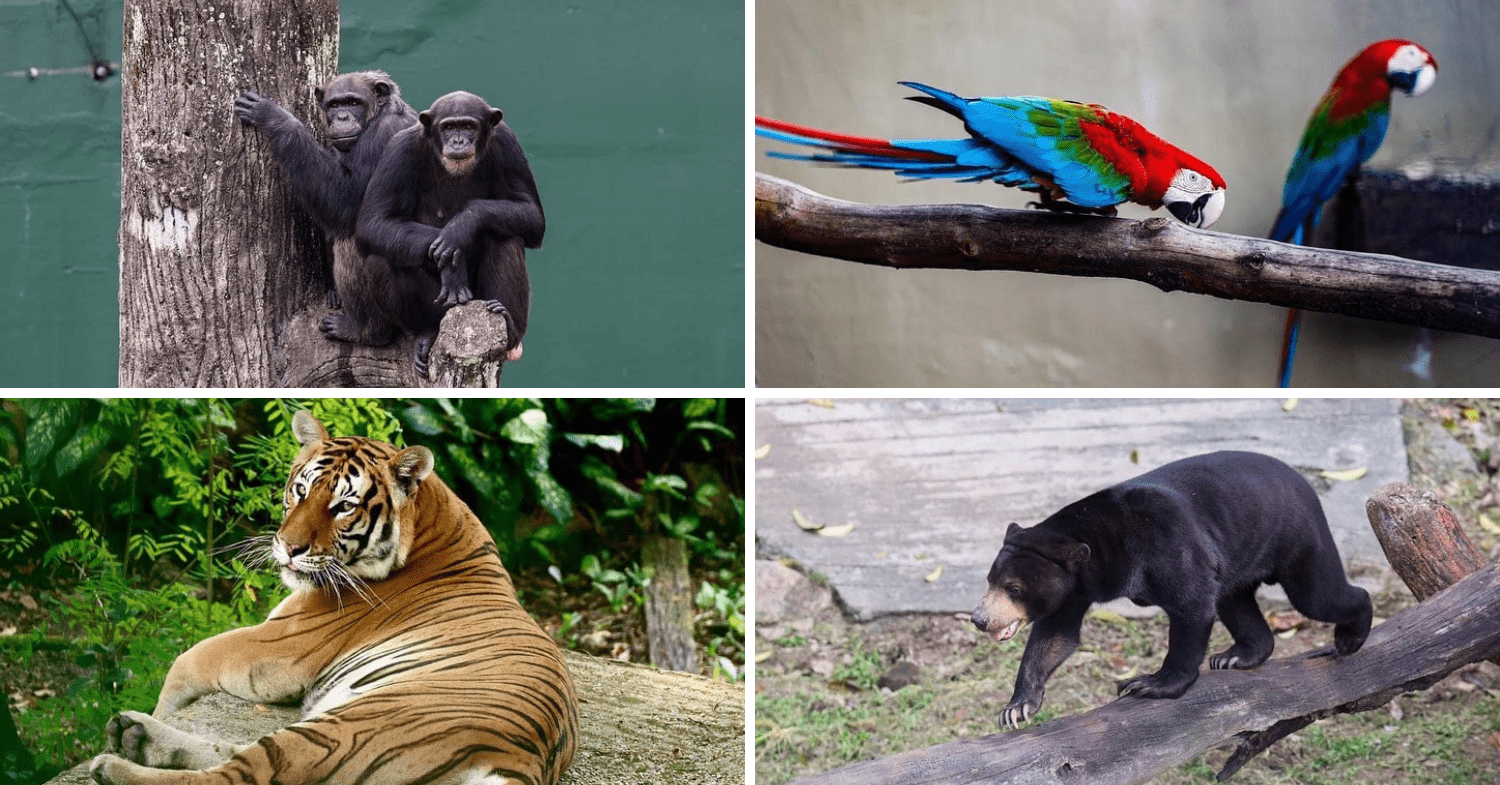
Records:
[[[400,89],[382,71],[342,74],[315,93],[332,149],[318,144],[312,131],[285,107],[260,93],[240,93],[234,113],[270,140],[288,188],[333,245],[334,291],[328,293],[328,305],[339,308],[342,300],[345,314],[327,320],[338,321],[345,332],[363,335],[364,344],[388,344],[396,329],[369,311],[368,300],[344,293],[368,267],[354,248],[364,186],[392,137],[417,125],[417,111],[400,99]]]

